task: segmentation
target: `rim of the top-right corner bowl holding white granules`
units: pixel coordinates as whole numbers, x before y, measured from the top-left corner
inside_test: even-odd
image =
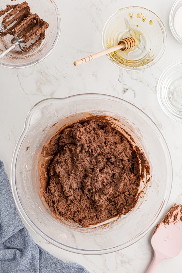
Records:
[[[171,12],[169,14],[169,26],[174,38],[182,44],[182,39],[181,37],[179,37],[179,35],[177,34],[175,30],[175,24],[177,24],[177,22],[174,22],[175,14],[181,6],[182,6],[182,0],[175,1],[174,5],[172,6]]]

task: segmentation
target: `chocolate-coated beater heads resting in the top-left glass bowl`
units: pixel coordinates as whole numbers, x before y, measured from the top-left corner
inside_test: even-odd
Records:
[[[12,43],[16,39],[22,40],[20,49],[25,52],[33,47],[40,46],[49,24],[36,13],[32,14],[26,1],[21,4],[7,5],[4,10],[0,11],[0,17],[3,15],[0,36],[14,35],[15,37],[11,40]],[[27,45],[28,42],[31,43]]]

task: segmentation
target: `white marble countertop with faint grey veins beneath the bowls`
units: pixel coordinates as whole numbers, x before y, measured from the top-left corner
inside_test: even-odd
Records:
[[[173,0],[56,0],[61,15],[61,36],[54,51],[41,63],[26,69],[0,67],[0,158],[10,175],[13,151],[24,127],[25,117],[38,101],[79,93],[103,93],[123,98],[142,109],[161,130],[173,163],[173,186],[167,209],[182,202],[182,123],[170,119],[160,108],[156,95],[158,79],[171,63],[182,59],[182,45],[169,29]],[[138,5],[156,13],[167,31],[167,46],[157,64],[144,71],[125,71],[107,57],[73,66],[73,61],[102,50],[101,34],[107,18],[124,6]],[[75,23],[76,22],[76,23]],[[11,79],[11,80],[9,80]],[[134,245],[107,255],[86,256],[51,246],[30,231],[34,240],[62,260],[76,261],[90,272],[144,273],[152,259],[152,232]],[[164,260],[156,273],[181,272],[182,252]]]

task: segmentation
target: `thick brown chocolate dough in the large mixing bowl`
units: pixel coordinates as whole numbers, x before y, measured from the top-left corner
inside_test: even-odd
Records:
[[[104,116],[60,129],[44,145],[41,193],[57,218],[82,227],[131,211],[149,163]]]

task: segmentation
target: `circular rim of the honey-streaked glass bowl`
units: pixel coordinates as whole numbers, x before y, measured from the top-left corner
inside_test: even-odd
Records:
[[[144,9],[144,10],[146,10],[146,11],[149,11],[149,12],[153,13],[153,14],[156,16],[156,18],[159,20],[159,22],[160,22],[160,27],[161,27],[162,32],[163,32],[163,45],[162,45],[162,47],[161,47],[161,49],[160,49],[161,54],[158,56],[157,59],[154,59],[155,61],[153,60],[152,62],[150,62],[150,63],[148,63],[148,64],[146,64],[146,65],[143,65],[143,66],[139,66],[139,67],[128,67],[128,66],[125,66],[125,65],[123,65],[123,66],[121,67],[119,64],[113,62],[113,61],[109,58],[109,55],[108,55],[108,54],[107,54],[107,57],[108,57],[108,59],[109,59],[112,63],[114,63],[115,65],[117,65],[117,66],[118,66],[119,68],[121,68],[121,69],[130,70],[130,71],[140,71],[140,70],[144,70],[144,69],[146,69],[146,68],[151,67],[152,65],[154,65],[155,63],[157,63],[157,62],[160,60],[160,58],[161,58],[162,55],[164,54],[164,51],[165,51],[165,48],[166,48],[166,43],[167,43],[166,28],[165,28],[165,26],[164,26],[162,20],[159,18],[159,16],[156,15],[156,14],[155,14],[153,11],[151,11],[150,9],[147,9],[147,8],[144,8],[144,7],[140,7],[140,6],[129,6],[129,7],[124,7],[124,8],[121,8],[121,9],[115,11],[115,12],[107,19],[107,21],[106,21],[106,23],[105,23],[105,25],[104,25],[104,28],[103,28],[103,30],[102,30],[102,46],[103,46],[104,50],[107,49],[107,48],[105,47],[105,40],[106,40],[106,39],[105,39],[105,38],[106,38],[105,36],[106,36],[107,27],[108,27],[109,23],[111,22],[111,20],[115,17],[115,15],[117,15],[117,14],[120,13],[121,11],[130,9],[130,8],[142,8],[142,9]],[[149,65],[149,64],[150,64],[150,65]]]

